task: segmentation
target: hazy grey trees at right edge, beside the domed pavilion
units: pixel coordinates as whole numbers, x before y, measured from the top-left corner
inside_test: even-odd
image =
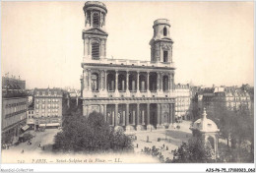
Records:
[[[250,158],[253,158],[254,150],[253,116],[250,116],[250,112],[243,105],[238,110],[231,111],[221,104],[217,102],[214,111],[209,113],[208,117],[217,123],[221,131],[221,137],[226,139],[227,151],[222,149],[222,152],[229,155],[230,158],[223,156],[224,160],[248,162]],[[231,142],[231,148],[229,148],[229,141]],[[248,147],[250,151],[245,150]]]

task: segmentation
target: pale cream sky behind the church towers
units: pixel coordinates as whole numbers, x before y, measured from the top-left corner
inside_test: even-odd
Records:
[[[85,2],[2,2],[1,74],[27,88],[80,88]],[[106,57],[151,59],[157,19],[170,21],[175,83],[254,83],[253,2],[113,2]]]

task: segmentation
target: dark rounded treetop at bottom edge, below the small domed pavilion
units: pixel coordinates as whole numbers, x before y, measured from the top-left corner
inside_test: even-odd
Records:
[[[187,143],[181,144],[174,150],[173,163],[206,163],[214,162],[214,151],[209,143],[204,143],[201,139],[191,139]]]

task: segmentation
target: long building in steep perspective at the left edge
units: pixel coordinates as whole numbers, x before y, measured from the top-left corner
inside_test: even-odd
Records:
[[[15,143],[26,126],[26,82],[2,77],[2,144]]]

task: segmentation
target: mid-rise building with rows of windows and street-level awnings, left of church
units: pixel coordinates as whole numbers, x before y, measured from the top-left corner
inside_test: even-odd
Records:
[[[59,127],[62,124],[62,98],[60,88],[34,88],[34,128]]]

